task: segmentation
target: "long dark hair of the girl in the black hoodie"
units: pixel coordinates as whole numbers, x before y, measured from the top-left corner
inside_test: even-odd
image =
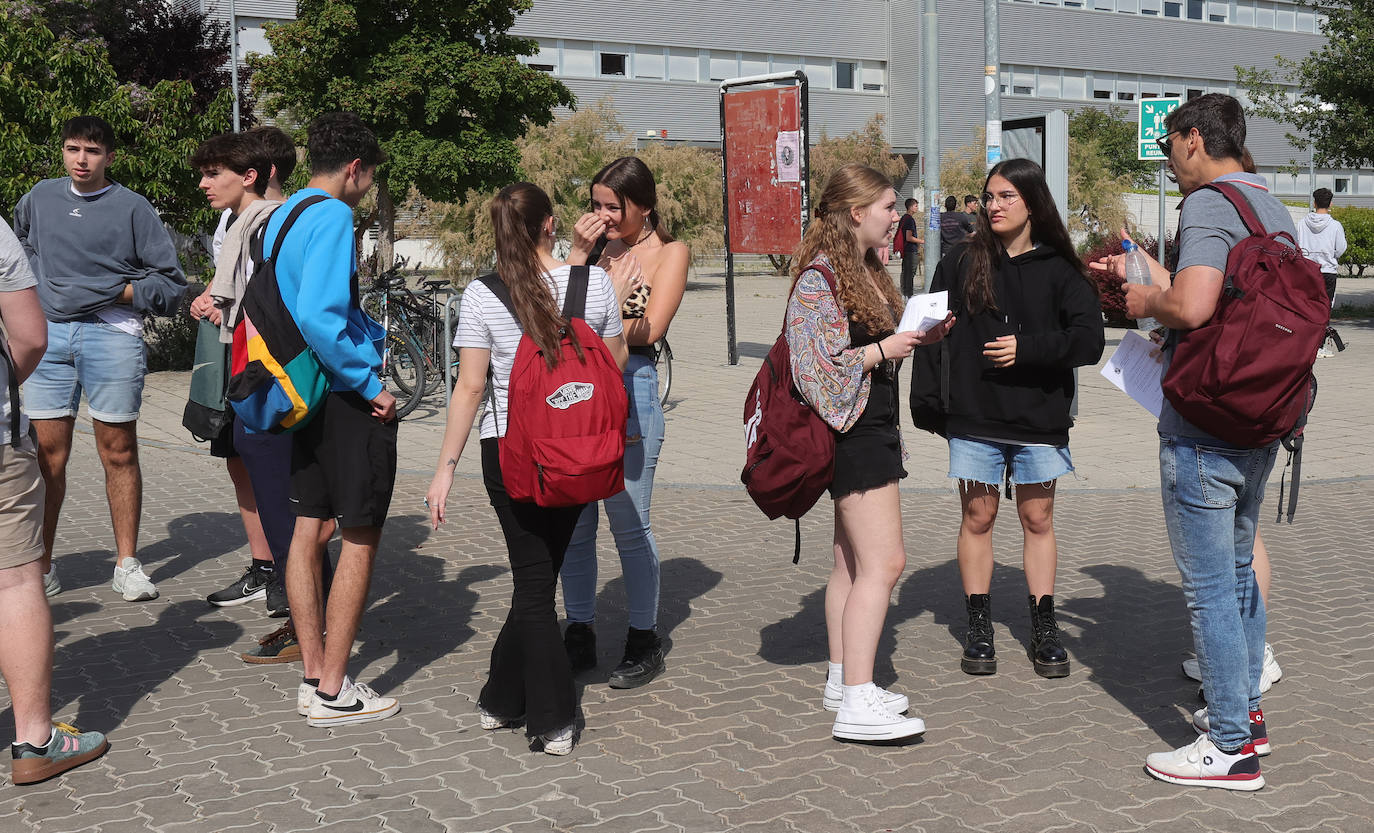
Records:
[[[988,179],[982,180],[982,192],[988,192],[988,183],[992,177],[1000,176],[1011,183],[1011,187],[1021,194],[1030,214],[1030,239],[1054,249],[1059,257],[1069,261],[1069,265],[1080,278],[1088,282],[1092,293],[1098,293],[1098,285],[1088,278],[1088,271],[1083,268],[1079,253],[1073,250],[1073,241],[1069,239],[1069,230],[1059,219],[1059,209],[1050,194],[1050,186],[1044,180],[1044,169],[1030,159],[1003,159],[992,166]],[[970,312],[996,309],[998,298],[992,291],[992,275],[1002,263],[1002,253],[1006,247],[1002,238],[992,231],[992,221],[988,219],[988,209],[978,210],[974,221],[974,234],[969,241],[965,257],[969,271],[963,279],[963,298]]]

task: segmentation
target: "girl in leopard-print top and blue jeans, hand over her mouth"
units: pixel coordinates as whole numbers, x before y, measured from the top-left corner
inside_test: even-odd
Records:
[[[658,542],[649,522],[658,451],[664,444],[664,407],[658,401],[658,349],[687,290],[688,252],[658,219],[654,175],[635,157],[621,157],[592,177],[591,212],[573,228],[567,263],[581,265],[598,242],[596,265],[609,269],[635,261],[642,283],[625,298],[620,316],[629,360],[625,390],[625,491],[602,500],[620,553],[629,605],[625,653],[610,674],[611,689],[635,689],[664,671],[658,628]],[[460,364],[462,367],[462,364]],[[563,645],[573,674],[596,665],[596,504],[583,510],[563,559]]]

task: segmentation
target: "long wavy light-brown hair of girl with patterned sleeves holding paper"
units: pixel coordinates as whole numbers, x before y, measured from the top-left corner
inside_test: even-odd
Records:
[[[791,258],[791,283],[796,286],[811,261],[824,253],[835,271],[841,308],[849,320],[861,323],[874,335],[896,330],[901,296],[878,254],[872,249],[859,250],[851,209],[867,208],[890,192],[892,181],[866,165],[851,162],[834,172],[816,205],[816,216]]]

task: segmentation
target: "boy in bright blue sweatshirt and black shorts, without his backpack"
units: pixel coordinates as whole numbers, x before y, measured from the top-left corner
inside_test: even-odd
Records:
[[[286,564],[286,594],[305,675],[297,712],[311,726],[379,720],[400,711],[348,676],[348,658],[367,603],[372,561],[396,481],[396,399],[382,388],[382,327],[359,307],[353,209],[371,190],[382,150],[352,113],[311,122],[311,181],[268,220],[271,252],[293,209],[311,197],[282,241],[276,279],[282,301],[330,379],[330,395],[293,434],[291,506],[295,533]],[[320,533],[338,518],[344,544],[323,588]]]

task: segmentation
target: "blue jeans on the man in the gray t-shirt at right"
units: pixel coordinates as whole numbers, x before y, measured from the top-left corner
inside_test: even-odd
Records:
[[[1248,712],[1260,708],[1265,619],[1250,562],[1276,452],[1276,443],[1232,448],[1160,434],[1164,522],[1189,603],[1208,734],[1224,751],[1250,741]]]

